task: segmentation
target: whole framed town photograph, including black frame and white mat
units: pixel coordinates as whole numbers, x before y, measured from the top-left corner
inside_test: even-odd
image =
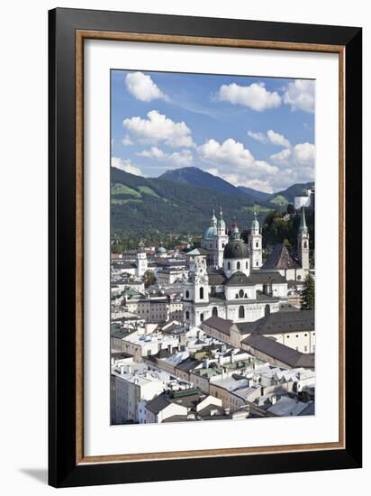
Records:
[[[360,467],[361,29],[49,23],[50,484]]]

